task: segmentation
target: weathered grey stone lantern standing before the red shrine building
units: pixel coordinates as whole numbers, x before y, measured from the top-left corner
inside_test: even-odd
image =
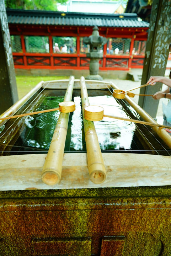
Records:
[[[90,75],[86,79],[91,80],[103,80],[100,75],[98,75],[99,70],[99,59],[103,57],[103,52],[100,52],[100,47],[106,44],[106,37],[99,36],[98,27],[93,27],[92,35],[89,37],[84,37],[83,42],[85,44],[90,44],[90,52],[86,53],[87,58],[90,58]]]

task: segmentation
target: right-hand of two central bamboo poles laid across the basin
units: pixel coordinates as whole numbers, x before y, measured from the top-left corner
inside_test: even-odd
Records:
[[[90,175],[90,180],[93,183],[99,184],[106,179],[105,164],[103,161],[100,145],[98,143],[98,137],[96,134],[95,126],[92,121],[88,121],[84,118],[84,109],[89,106],[89,99],[85,84],[85,78],[81,76],[81,101],[82,101],[82,116],[84,121],[84,132],[87,149],[87,164]]]

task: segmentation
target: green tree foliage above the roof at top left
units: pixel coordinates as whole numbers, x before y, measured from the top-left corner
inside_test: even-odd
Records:
[[[6,8],[57,11],[57,4],[67,0],[5,0]]]

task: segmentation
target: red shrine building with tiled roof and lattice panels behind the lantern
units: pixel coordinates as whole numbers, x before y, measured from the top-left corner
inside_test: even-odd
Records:
[[[15,69],[89,70],[83,38],[95,25],[107,38],[101,71],[143,68],[149,23],[137,14],[6,11]]]

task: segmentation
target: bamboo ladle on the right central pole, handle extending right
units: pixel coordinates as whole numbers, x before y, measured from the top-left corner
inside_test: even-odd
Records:
[[[149,123],[149,122],[135,120],[135,119],[129,119],[129,118],[125,118],[125,117],[106,115],[106,114],[103,114],[103,108],[100,106],[87,106],[84,109],[84,118],[86,120],[100,121],[103,119],[103,117],[109,117],[109,118],[119,119],[119,120],[123,120],[123,121],[133,122],[133,123],[140,123],[140,124],[145,124],[145,125],[149,125],[149,126],[157,126],[160,128],[171,129],[170,126],[163,126],[162,124]]]

